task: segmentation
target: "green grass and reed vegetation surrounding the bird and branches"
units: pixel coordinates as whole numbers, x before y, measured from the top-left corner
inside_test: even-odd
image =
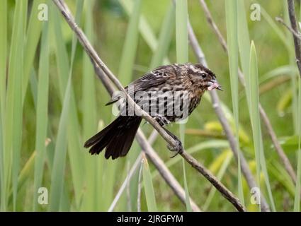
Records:
[[[239,150],[268,205],[273,211],[300,211],[301,79],[292,34],[274,19],[282,16],[290,24],[286,1],[259,1],[260,20],[250,18],[251,0],[206,1],[229,40],[227,52],[199,1],[176,2],[178,6],[159,0],[66,0],[76,23],[123,85],[161,64],[197,62],[188,45],[190,20],[224,90],[218,94]],[[47,21],[38,20],[40,4],[48,6]],[[295,6],[301,20],[300,1]],[[113,119],[111,107],[105,106],[110,96],[83,47],[50,0],[1,0],[0,33],[0,210],[107,211],[141,148],[135,141],[127,157],[118,160],[105,160],[103,153],[91,156],[83,148],[86,138]],[[239,83],[237,66],[246,88]],[[296,182],[273,146],[259,102],[293,165]],[[147,136],[153,130],[143,123],[140,128]],[[209,95],[187,124],[168,128],[247,210],[260,210],[251,203],[241,162],[234,158]],[[136,211],[139,200],[142,211],[191,211],[188,196],[201,210],[235,210],[181,156],[171,159],[162,138],[153,147],[186,192],[186,203],[143,156],[141,174],[139,166],[114,210]],[[40,187],[48,189],[47,205],[38,203]]]

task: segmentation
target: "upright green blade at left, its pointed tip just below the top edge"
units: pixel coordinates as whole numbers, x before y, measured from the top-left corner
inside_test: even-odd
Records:
[[[48,89],[49,89],[49,37],[48,23],[44,23],[42,30],[42,41],[39,62],[38,80],[38,100],[37,100],[37,123],[35,136],[35,179],[33,190],[33,210],[38,207],[38,189],[42,184],[42,175],[45,162],[45,140],[47,137],[47,117],[48,117]]]

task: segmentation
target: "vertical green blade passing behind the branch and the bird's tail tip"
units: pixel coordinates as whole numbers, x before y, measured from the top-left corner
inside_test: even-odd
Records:
[[[85,33],[91,44],[94,43],[93,33],[93,5],[95,1],[84,1],[85,3]],[[93,66],[86,53],[83,53],[83,138],[84,140],[93,136],[97,131],[96,120],[96,78],[93,73]],[[97,211],[100,210],[99,196],[101,196],[101,186],[98,181],[101,181],[102,170],[98,168],[103,162],[102,157],[94,157],[86,155],[86,191],[83,196],[83,204],[81,210]],[[101,182],[101,184],[103,184]]]

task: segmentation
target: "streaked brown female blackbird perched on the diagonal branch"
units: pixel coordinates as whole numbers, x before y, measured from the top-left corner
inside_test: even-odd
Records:
[[[221,90],[212,71],[202,64],[187,63],[159,66],[130,83],[125,90],[137,105],[164,126],[186,119],[200,103],[205,90],[215,88]],[[117,95],[107,105],[118,100],[124,101],[125,98]],[[106,148],[107,159],[110,156],[112,159],[123,157],[130,150],[141,121],[142,117],[127,103],[120,105],[120,116],[86,141],[84,147],[91,147],[89,152],[92,155]]]

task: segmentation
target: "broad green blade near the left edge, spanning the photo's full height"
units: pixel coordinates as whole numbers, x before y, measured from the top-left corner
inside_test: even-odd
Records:
[[[27,1],[17,1],[13,17],[13,33],[8,67],[4,134],[4,179],[8,190],[10,177],[13,184],[13,210],[16,210],[18,172],[20,168],[20,150],[22,140],[22,74],[24,23],[27,13]],[[6,197],[7,199],[7,197]],[[6,202],[4,200],[4,202]]]

